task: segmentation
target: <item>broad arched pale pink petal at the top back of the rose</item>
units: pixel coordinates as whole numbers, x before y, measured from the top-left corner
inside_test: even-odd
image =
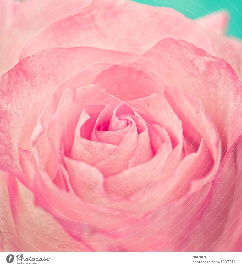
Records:
[[[52,23],[25,47],[22,58],[40,50],[69,46],[109,48],[141,55],[167,37],[192,42],[214,54],[206,32],[174,9],[114,0],[94,3]]]

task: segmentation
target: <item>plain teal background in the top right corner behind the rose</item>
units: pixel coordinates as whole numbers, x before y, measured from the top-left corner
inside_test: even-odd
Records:
[[[136,2],[176,9],[186,17],[195,19],[224,9],[230,16],[227,35],[242,39],[242,0],[135,0]]]

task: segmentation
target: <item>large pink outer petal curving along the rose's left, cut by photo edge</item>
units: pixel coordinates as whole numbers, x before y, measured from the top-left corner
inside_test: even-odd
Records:
[[[1,169],[14,173],[20,170],[17,149],[21,147],[30,150],[30,135],[37,118],[61,84],[82,70],[85,64],[110,59],[119,62],[124,56],[123,53],[95,48],[57,48],[22,60],[3,75],[0,78]],[[63,86],[60,92],[66,88]],[[56,102],[58,103],[57,100]],[[51,116],[52,109],[42,124],[45,125]],[[41,127],[38,131],[42,131]],[[38,131],[36,135],[39,135]],[[43,145],[43,142],[40,145]]]

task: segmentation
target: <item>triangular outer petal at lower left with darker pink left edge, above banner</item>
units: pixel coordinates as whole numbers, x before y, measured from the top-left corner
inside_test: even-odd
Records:
[[[35,206],[32,192],[21,183],[18,183],[14,176],[9,177],[9,180],[10,203],[18,235],[18,250],[91,250],[88,246],[72,239],[51,215],[44,212],[40,207]]]

